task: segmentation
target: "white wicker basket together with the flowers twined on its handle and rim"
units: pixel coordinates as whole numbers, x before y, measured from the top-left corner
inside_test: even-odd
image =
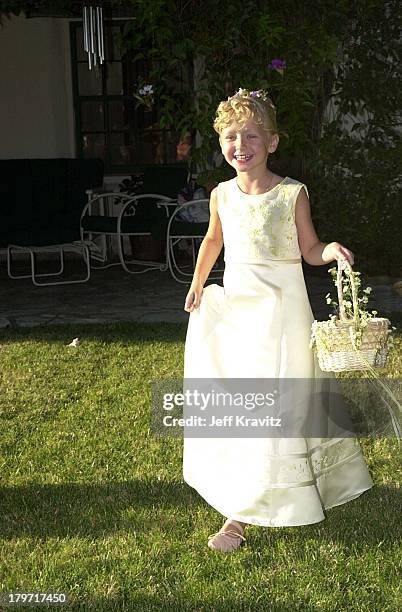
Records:
[[[392,344],[392,330],[389,319],[376,317],[377,311],[369,313],[365,309],[371,287],[364,289],[365,295],[359,297],[360,272],[354,272],[348,262],[338,261],[338,269],[331,268],[329,272],[338,291],[339,318],[331,315],[328,321],[312,324],[310,348],[316,351],[321,370],[383,368]],[[329,294],[326,299],[328,304],[338,306]]]

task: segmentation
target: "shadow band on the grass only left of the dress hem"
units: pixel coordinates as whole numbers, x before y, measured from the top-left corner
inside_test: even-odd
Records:
[[[121,529],[163,529],[168,526],[165,514],[161,522],[151,512],[202,503],[195,491],[177,481],[0,487],[0,537],[104,537]]]

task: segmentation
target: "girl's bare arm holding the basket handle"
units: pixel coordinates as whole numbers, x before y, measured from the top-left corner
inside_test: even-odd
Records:
[[[310,202],[303,188],[296,200],[296,227],[301,254],[311,266],[323,266],[334,259],[346,259],[353,266],[352,251],[339,242],[320,242],[311,219]]]

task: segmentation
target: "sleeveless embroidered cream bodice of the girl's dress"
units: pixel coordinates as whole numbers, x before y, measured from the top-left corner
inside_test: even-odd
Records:
[[[270,191],[242,192],[236,179],[219,183],[218,214],[225,244],[225,261],[263,263],[265,260],[300,260],[295,205],[304,183],[285,177]]]

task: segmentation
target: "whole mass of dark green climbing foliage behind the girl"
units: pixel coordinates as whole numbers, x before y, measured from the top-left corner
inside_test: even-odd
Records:
[[[153,62],[144,78],[159,92],[161,125],[200,135],[192,164],[204,184],[230,176],[225,163],[214,169],[219,101],[238,87],[268,89],[281,136],[271,168],[308,183],[320,238],[349,246],[364,272],[397,274],[399,3],[131,4],[138,21],[122,44]],[[283,74],[268,69],[278,57]],[[185,62],[195,62],[196,91],[189,83],[178,96],[172,75]]]

